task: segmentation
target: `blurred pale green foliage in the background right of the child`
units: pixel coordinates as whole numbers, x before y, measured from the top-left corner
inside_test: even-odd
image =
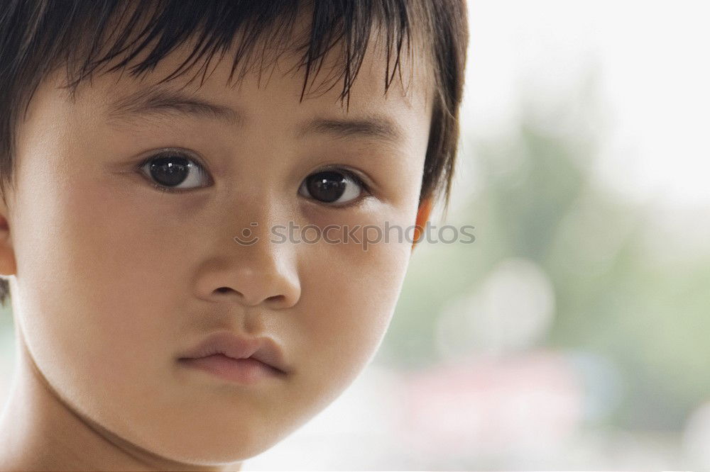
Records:
[[[442,309],[476,291],[501,260],[524,257],[555,290],[542,345],[602,356],[621,373],[623,398],[606,421],[679,430],[710,391],[710,257],[659,254],[648,244],[657,237],[652,214],[595,184],[594,81],[582,89],[569,102],[581,112],[562,110],[555,122],[576,117],[564,126],[574,133],[540,123],[528,107],[518,133],[474,143],[483,189],[449,224],[474,225],[476,242],[417,248],[384,347],[402,367],[435,363]]]

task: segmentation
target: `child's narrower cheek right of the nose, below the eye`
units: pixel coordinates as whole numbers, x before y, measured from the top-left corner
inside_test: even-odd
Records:
[[[405,218],[389,218],[390,225],[406,226]],[[384,227],[385,219],[368,223]],[[364,249],[362,230],[353,233],[361,243],[302,245],[306,255],[302,293],[308,294],[302,308],[304,339],[302,353],[319,365],[309,371],[318,388],[344,388],[376,352],[398,300],[408,267],[410,244],[373,242]],[[331,238],[342,236],[332,231]],[[373,234],[371,240],[376,239]],[[323,375],[327,372],[328,375]],[[327,386],[328,383],[332,385]]]

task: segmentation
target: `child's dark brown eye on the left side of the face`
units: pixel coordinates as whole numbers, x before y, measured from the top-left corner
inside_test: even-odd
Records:
[[[141,171],[160,189],[194,189],[209,185],[207,172],[194,159],[180,152],[156,154],[141,165]]]

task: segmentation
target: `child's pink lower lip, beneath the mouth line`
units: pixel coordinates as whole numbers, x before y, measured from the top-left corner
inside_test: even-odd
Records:
[[[199,359],[180,359],[180,363],[237,383],[258,383],[266,378],[283,376],[278,369],[256,359],[232,359],[224,354],[213,354]]]

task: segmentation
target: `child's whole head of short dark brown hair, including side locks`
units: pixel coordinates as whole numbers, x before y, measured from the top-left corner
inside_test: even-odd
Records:
[[[239,35],[232,74],[242,63],[263,64],[266,46],[287,37],[297,14],[310,13],[310,30],[297,47],[302,52],[303,93],[320,70],[324,56],[342,48],[337,81],[341,100],[359,71],[373,26],[385,33],[385,91],[398,72],[403,45],[424,47],[434,88],[420,203],[444,196],[448,207],[459,139],[459,104],[468,44],[465,0],[4,0],[0,10],[0,196],[13,186],[16,128],[39,84],[66,67],[67,88],[77,87],[99,67],[119,60],[107,72],[128,67],[133,77],[150,72],[176,47],[195,40],[190,64],[183,63],[166,79],[178,77],[198,60],[226,52]],[[253,61],[260,44],[262,56]],[[278,44],[277,44],[278,45]],[[261,46],[260,46],[261,47]],[[245,59],[246,58],[246,59]],[[251,60],[251,61],[250,61]],[[392,64],[392,65],[390,65]],[[206,67],[206,66],[205,66]],[[200,74],[198,69],[197,75]],[[204,77],[204,73],[203,73]],[[231,78],[231,76],[230,76]],[[0,302],[9,296],[0,280]]]

